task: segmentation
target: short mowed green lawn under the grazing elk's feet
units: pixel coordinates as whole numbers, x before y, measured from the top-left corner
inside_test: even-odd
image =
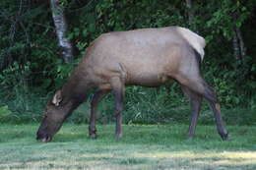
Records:
[[[52,142],[35,141],[37,124],[0,125],[0,169],[256,169],[256,127],[229,126],[223,142],[213,126],[124,125],[121,140],[113,125],[65,124]]]

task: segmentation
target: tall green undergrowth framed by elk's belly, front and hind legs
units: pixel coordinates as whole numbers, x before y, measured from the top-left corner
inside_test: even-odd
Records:
[[[177,85],[160,88],[128,87],[125,97],[126,123],[170,123],[189,119],[189,104]],[[175,113],[180,115],[177,119]]]

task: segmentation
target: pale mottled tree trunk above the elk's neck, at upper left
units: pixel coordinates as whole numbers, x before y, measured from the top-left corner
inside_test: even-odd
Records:
[[[50,5],[62,57],[64,61],[68,62],[74,58],[74,55],[71,41],[65,37],[68,26],[64,15],[64,7],[61,5],[61,0],[51,0]]]

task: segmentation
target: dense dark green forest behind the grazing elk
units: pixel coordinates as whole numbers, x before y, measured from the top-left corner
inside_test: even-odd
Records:
[[[65,15],[65,38],[72,45],[68,59],[58,45],[50,1],[0,1],[1,122],[40,120],[49,97],[99,34],[181,26],[206,38],[201,72],[218,92],[227,124],[255,124],[256,0],[59,0],[58,5],[55,15]],[[88,102],[69,121],[87,122]],[[98,121],[110,122],[112,110],[109,95],[100,104]],[[177,84],[126,90],[125,123],[186,122],[189,110]],[[200,121],[211,123],[212,117],[204,104]]]

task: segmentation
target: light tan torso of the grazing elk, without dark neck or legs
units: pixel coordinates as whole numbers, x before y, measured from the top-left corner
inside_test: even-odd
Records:
[[[158,86],[177,73],[194,74],[193,54],[176,27],[110,32],[93,42],[77,70],[86,70],[100,89],[110,89],[113,77],[125,85]]]

